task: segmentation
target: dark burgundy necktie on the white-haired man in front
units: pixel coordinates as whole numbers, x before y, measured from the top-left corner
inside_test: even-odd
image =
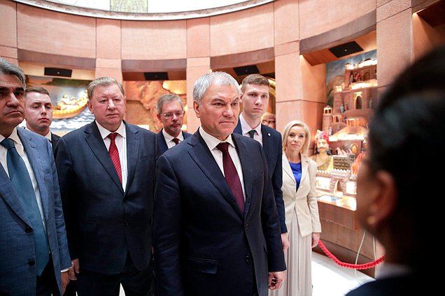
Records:
[[[238,172],[236,172],[235,165],[229,154],[229,143],[224,142],[216,146],[223,152],[223,167],[224,167],[224,177],[232,189],[233,194],[236,198],[236,203],[239,205],[241,212],[244,212],[244,195],[243,187],[241,186],[241,181],[239,180]]]

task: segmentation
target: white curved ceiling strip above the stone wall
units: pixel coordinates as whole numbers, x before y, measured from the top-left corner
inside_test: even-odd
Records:
[[[62,13],[118,20],[183,20],[232,13],[275,0],[13,0]]]

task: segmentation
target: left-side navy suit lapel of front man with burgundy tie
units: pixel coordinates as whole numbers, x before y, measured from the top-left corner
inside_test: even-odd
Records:
[[[199,135],[199,131],[197,131],[194,135],[192,135],[192,140],[190,141],[190,145],[193,146],[192,149],[188,151],[190,157],[197,163],[198,167],[204,172],[204,175],[209,179],[210,182],[220,191],[223,198],[229,202],[236,213],[243,217],[243,213],[241,213],[241,209],[236,203],[236,199],[232,193],[227,182],[225,182],[225,178],[223,172],[221,172],[218,164],[213,158],[209,147],[207,147],[204,139]]]

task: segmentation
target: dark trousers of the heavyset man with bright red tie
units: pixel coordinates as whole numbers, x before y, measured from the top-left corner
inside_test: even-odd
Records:
[[[120,285],[126,296],[153,295],[153,264],[143,270],[134,267],[132,257],[127,253],[125,267],[120,274],[101,274],[82,269],[77,275],[77,293],[79,296],[119,296]]]

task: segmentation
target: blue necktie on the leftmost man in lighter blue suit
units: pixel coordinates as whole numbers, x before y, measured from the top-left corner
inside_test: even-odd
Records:
[[[25,207],[25,212],[31,222],[31,229],[26,228],[24,231],[34,232],[34,239],[36,242],[36,272],[40,276],[48,264],[50,258],[50,250],[48,248],[48,241],[46,240],[45,228],[43,227],[42,216],[38,209],[36,194],[32,186],[31,177],[22,157],[15,149],[13,140],[4,139],[0,143],[3,147],[8,149],[6,154],[6,163],[8,166],[8,173],[10,182],[15,188],[15,192],[22,200]],[[29,254],[32,256],[32,254]],[[3,254],[2,256],[8,256]]]

